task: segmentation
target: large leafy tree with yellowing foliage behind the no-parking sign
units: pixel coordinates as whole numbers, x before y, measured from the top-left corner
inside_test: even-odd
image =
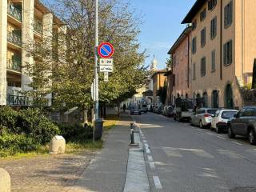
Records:
[[[38,78],[30,86],[48,90],[46,88],[50,85],[50,90],[41,94],[41,97],[44,98],[49,92],[54,93],[54,110],[66,110],[74,106],[88,110],[92,106],[90,86],[94,78],[94,0],[56,0],[50,7],[66,25],[66,34],[54,35],[58,39],[64,36],[63,43],[66,46],[59,48],[59,40],[55,41],[58,49],[53,51],[57,57],[47,63],[47,69],[42,67],[46,64],[44,59],[26,66],[32,69],[29,70],[30,75],[34,79]],[[111,42],[115,49],[114,72],[110,74],[109,82],[102,81],[102,74],[99,76],[100,101],[109,104],[130,97],[130,93],[144,83],[147,75],[146,68],[142,66],[145,52],[138,51],[137,36],[141,22],[130,11],[128,3],[102,0],[98,10],[100,42]],[[37,49],[32,46],[30,54],[33,57],[46,57],[48,51],[42,50],[49,47],[43,43],[40,46],[41,52],[34,51]],[[40,75],[49,74],[49,69],[52,70],[46,78],[50,78],[52,83],[45,82],[45,77]],[[38,91],[36,93],[40,94]]]

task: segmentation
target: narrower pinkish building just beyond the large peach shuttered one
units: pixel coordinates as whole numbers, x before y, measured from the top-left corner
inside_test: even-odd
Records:
[[[192,97],[189,49],[191,30],[191,26],[188,25],[168,52],[172,55],[173,61],[173,88],[170,96],[173,104],[176,98]]]

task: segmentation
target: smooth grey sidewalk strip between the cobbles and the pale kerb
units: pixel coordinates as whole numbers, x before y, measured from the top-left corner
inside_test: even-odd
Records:
[[[122,192],[130,140],[128,114],[121,114],[118,125],[110,130],[103,150],[96,154],[73,187],[62,192]]]

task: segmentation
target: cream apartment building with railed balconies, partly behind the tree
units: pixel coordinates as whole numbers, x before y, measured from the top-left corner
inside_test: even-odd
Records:
[[[30,89],[32,79],[22,66],[37,61],[25,47],[37,41],[51,47],[53,34],[60,30],[65,26],[38,0],[0,1],[0,106],[29,105],[21,91]]]

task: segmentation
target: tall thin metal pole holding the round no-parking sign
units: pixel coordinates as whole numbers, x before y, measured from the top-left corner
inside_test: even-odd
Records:
[[[94,49],[94,121],[98,119],[98,0],[95,0],[95,49]],[[94,135],[95,135],[95,126],[96,122],[94,122]],[[95,141],[95,137],[93,138]]]

